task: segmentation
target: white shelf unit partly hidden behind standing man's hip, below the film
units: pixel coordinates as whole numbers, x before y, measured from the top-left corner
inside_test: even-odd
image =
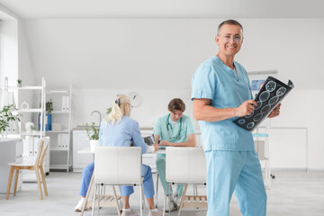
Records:
[[[271,166],[269,157],[269,129],[268,127],[258,127],[255,133],[252,133],[255,140],[255,147],[261,166],[264,168],[264,181],[267,189],[271,188]]]

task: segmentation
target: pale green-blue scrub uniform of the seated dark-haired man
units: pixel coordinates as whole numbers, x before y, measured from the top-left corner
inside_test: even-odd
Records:
[[[181,119],[176,121],[175,125],[171,121],[170,114],[159,117],[155,124],[153,134],[160,136],[160,140],[168,140],[172,143],[175,142],[184,142],[187,141],[187,136],[193,134],[193,121],[189,116],[182,115]],[[161,184],[165,191],[165,194],[172,194],[171,191],[166,192],[166,155],[158,154],[157,155],[157,172],[161,180]],[[176,193],[179,196],[182,196],[184,192],[184,184],[178,184],[176,186]]]

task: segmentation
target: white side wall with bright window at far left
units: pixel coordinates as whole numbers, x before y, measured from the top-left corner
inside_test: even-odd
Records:
[[[8,77],[8,85],[16,86],[17,79],[23,80],[23,85],[35,85],[35,76],[32,73],[27,41],[23,29],[22,19],[0,4],[0,107],[4,105],[4,77]],[[23,100],[35,101],[33,94],[14,92],[14,102],[17,107]],[[31,103],[30,103],[31,104]],[[33,103],[31,105],[36,105]],[[24,121],[31,121],[32,115],[23,114]]]

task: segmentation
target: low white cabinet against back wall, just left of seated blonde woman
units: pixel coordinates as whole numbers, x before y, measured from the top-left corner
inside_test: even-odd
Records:
[[[93,154],[78,154],[77,151],[90,148],[89,139],[85,130],[73,130],[73,172],[82,172],[82,169],[94,161]]]

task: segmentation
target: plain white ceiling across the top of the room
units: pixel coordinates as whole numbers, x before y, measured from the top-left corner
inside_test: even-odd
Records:
[[[322,0],[0,0],[23,19],[324,18]]]

